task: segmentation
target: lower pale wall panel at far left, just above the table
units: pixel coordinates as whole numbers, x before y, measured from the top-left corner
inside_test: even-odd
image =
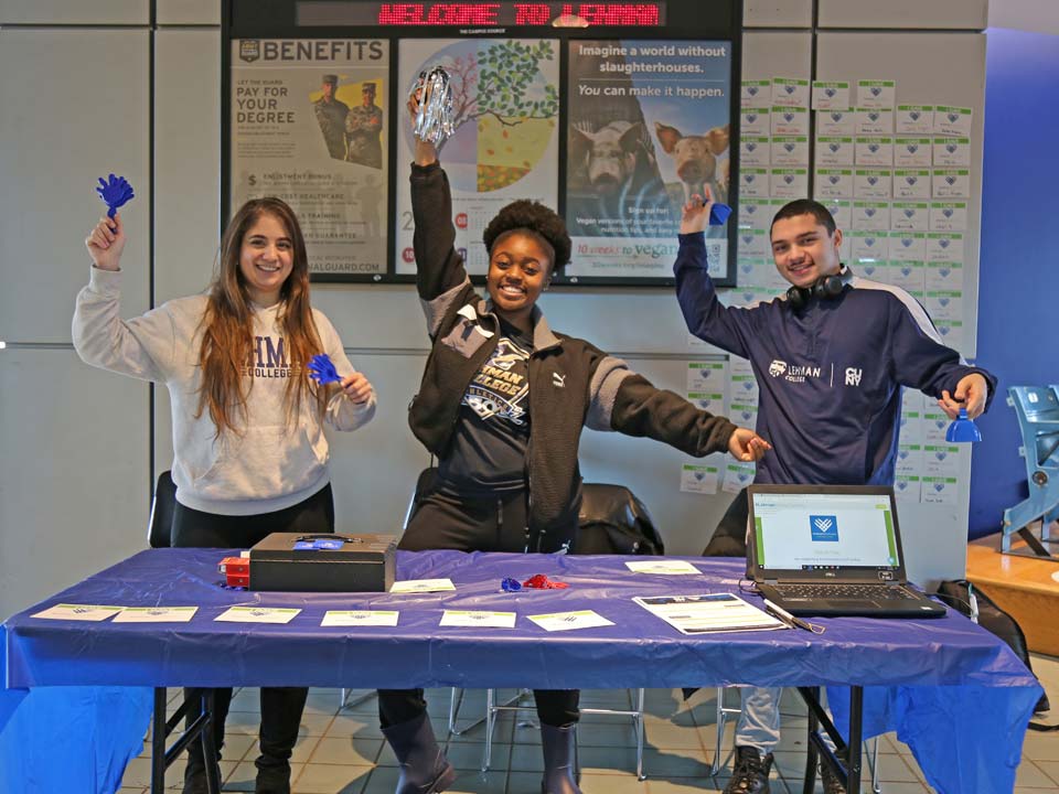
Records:
[[[0,619],[147,547],[147,386],[0,351]]]

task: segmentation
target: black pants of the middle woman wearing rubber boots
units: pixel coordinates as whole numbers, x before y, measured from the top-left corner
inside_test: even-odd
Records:
[[[525,551],[526,493],[466,498],[436,486],[425,494],[397,548],[408,551]],[[537,717],[544,725],[577,722],[577,689],[535,689]],[[422,689],[379,689],[378,719],[383,728],[415,719],[427,710]]]

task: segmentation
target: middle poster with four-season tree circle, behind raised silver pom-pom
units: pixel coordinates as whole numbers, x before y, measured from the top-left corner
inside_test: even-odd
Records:
[[[434,66],[443,66],[451,78],[454,131],[441,143],[438,158],[452,189],[456,246],[468,272],[484,275],[489,255],[482,232],[502,206],[530,198],[556,208],[558,42],[414,39],[398,46],[402,96],[420,72]],[[397,272],[414,273],[408,176],[415,147],[404,103],[402,111],[395,249]]]

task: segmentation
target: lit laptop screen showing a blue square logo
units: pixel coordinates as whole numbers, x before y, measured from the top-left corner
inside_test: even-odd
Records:
[[[837,490],[837,489],[836,489]],[[892,495],[751,489],[757,567],[766,571],[898,571]]]

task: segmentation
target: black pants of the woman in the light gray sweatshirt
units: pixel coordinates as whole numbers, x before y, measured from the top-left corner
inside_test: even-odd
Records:
[[[173,512],[173,546],[199,548],[249,548],[274,532],[320,534],[334,532],[334,498],[328,484],[309,498],[286,509],[246,516],[203,513],[176,503]],[[258,770],[287,771],[298,741],[298,726],[309,689],[304,687],[261,687],[261,727]],[[197,716],[202,689],[184,689],[184,699],[193,704],[186,725]],[[220,758],[224,744],[224,720],[232,702],[232,689],[213,690],[213,741]],[[185,776],[205,770],[202,744],[188,748]]]

